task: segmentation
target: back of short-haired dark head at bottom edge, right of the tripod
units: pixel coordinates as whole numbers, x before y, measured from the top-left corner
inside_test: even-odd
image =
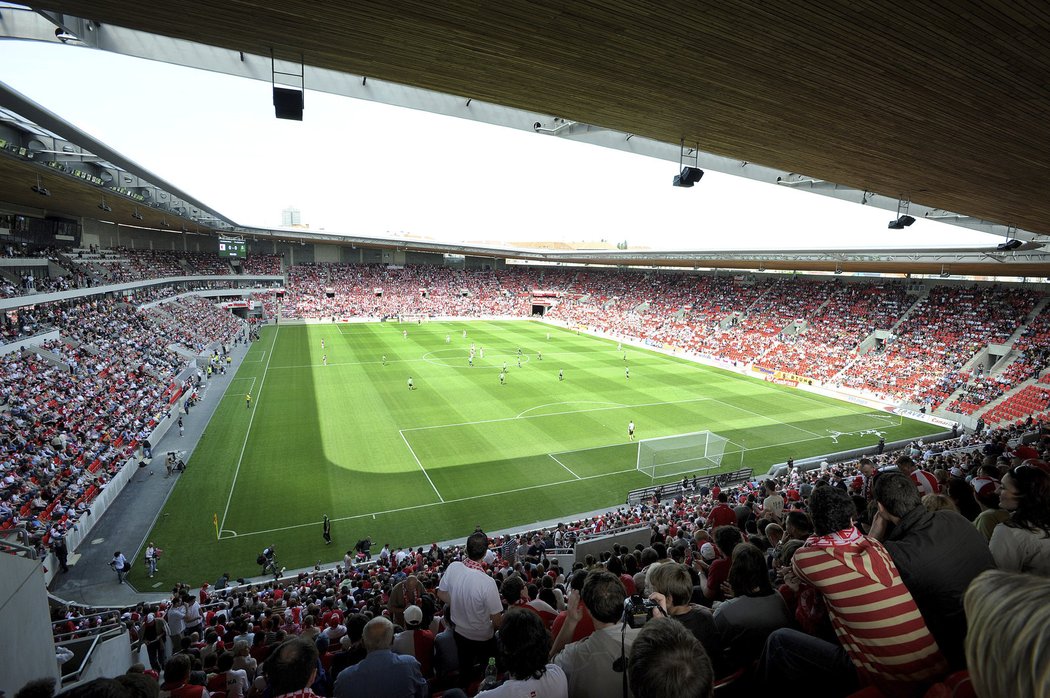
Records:
[[[714,695],[714,673],[704,646],[669,618],[653,618],[638,633],[631,647],[627,675],[634,698]]]

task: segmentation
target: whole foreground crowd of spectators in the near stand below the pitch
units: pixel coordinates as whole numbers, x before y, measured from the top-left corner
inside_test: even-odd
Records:
[[[465,545],[351,550],[284,580],[230,586],[223,574],[112,616],[57,609],[55,630],[119,616],[147,650],[150,669],[136,671],[242,698],[276,693],[277,658],[295,639],[316,669],[298,688],[336,698],[472,695],[489,657],[507,686],[486,678],[494,697],[620,695],[625,667],[638,697],[682,695],[680,673],[702,683],[686,694],[696,696],[716,682],[736,685],[732,695],[922,695],[968,680],[952,674],[967,669],[987,685],[1000,672],[972,652],[988,640],[972,630],[982,601],[967,589],[989,574],[1008,586],[1050,578],[1048,457],[1047,424],[1029,421],[520,534],[476,531]],[[649,544],[556,562],[583,531],[612,526],[647,529]],[[830,576],[828,565],[842,569]],[[848,591],[859,585],[866,596]],[[886,602],[857,606],[873,597]],[[1042,631],[1018,621],[1014,632]],[[1034,664],[1018,665],[1013,685],[1038,680]]]

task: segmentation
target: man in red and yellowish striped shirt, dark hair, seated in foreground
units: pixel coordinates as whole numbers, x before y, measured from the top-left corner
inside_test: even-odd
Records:
[[[768,685],[840,688],[848,695],[876,684],[890,695],[947,672],[915,599],[881,543],[853,525],[853,501],[836,487],[811,498],[815,535],[795,553],[792,567],[824,597],[839,644],[794,630],[774,632],[760,675]]]

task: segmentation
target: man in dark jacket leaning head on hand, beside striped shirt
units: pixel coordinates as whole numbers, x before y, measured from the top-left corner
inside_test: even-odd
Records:
[[[928,511],[915,482],[902,472],[876,478],[875,501],[879,513],[872,537],[885,545],[948,663],[964,668],[963,594],[976,575],[995,566],[984,537],[956,511]]]

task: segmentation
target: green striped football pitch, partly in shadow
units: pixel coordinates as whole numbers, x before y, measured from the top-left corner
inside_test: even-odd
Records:
[[[714,431],[730,441],[722,469],[756,473],[876,431],[939,430],[539,322],[267,327],[150,534],[164,580],[141,565],[131,577],[148,590],[253,576],[270,544],[295,569],[341,559],[365,535],[420,546],[615,508],[651,484],[630,421],[637,439]]]

